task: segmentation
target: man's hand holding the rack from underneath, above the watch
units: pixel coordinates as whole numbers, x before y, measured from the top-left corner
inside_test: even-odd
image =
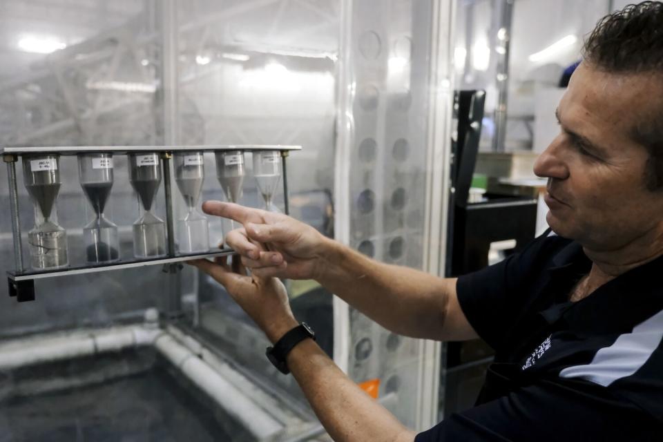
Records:
[[[225,287],[272,343],[298,325],[290,309],[287,291],[280,280],[260,278],[255,273],[247,276],[246,268],[242,265],[233,265],[236,273],[226,260],[227,257],[223,256],[215,262],[200,259],[189,261],[189,264],[209,274]]]

